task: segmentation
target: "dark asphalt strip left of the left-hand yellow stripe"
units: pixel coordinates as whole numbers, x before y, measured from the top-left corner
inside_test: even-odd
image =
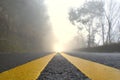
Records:
[[[0,72],[25,64],[48,53],[0,53]]]

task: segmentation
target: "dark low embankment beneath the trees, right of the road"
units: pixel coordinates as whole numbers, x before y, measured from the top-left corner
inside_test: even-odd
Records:
[[[78,50],[88,52],[120,52],[120,43],[112,43],[109,45],[103,45],[98,47],[81,48]]]

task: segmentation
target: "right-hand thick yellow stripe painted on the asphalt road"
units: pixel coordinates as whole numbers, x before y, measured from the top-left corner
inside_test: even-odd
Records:
[[[120,80],[120,70],[61,53],[68,61],[92,80]]]

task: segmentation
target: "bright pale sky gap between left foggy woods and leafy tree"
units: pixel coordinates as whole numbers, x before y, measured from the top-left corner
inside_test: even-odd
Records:
[[[56,46],[63,47],[76,35],[76,27],[68,19],[71,7],[79,7],[84,0],[46,0],[48,15],[54,34],[58,40]]]

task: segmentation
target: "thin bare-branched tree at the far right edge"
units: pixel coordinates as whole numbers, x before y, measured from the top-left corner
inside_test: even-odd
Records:
[[[120,14],[118,13],[119,11],[120,11],[119,3],[110,0],[109,3],[106,4],[106,9],[104,14],[108,26],[107,39],[106,39],[107,44],[110,44],[112,42],[112,39],[114,38],[113,28],[116,26],[117,22],[119,21],[120,18]]]

